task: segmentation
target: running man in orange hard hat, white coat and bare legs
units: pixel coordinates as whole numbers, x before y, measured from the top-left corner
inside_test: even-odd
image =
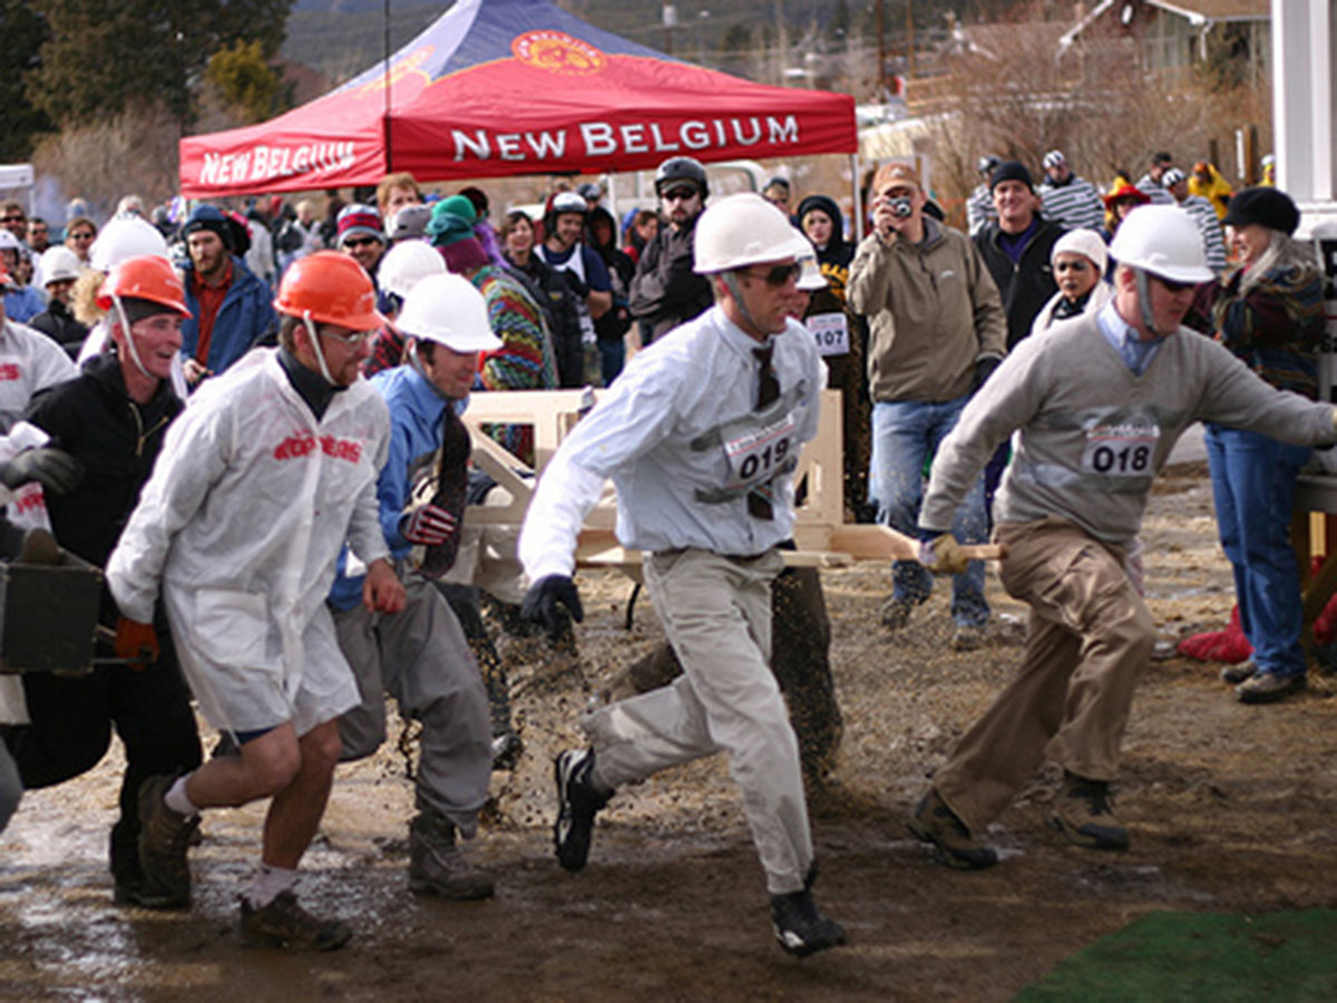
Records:
[[[381,317],[361,266],[333,251],[295,262],[274,306],[279,348],[250,352],[191,399],[107,580],[143,623],[162,588],[186,679],[239,746],[144,782],[146,877],[189,896],[199,809],[273,797],[242,937],[329,950],[350,929],[308,913],[293,885],[340,757],[337,718],[358,703],[325,606],[345,539],[368,566],[364,602],[384,612],[404,602],[376,503],[389,413],[360,376]]]

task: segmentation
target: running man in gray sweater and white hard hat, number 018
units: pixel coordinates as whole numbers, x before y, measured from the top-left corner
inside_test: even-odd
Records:
[[[1213,278],[1193,219],[1147,206],[1119,227],[1115,298],[1027,338],[943,443],[920,514],[921,559],[964,562],[949,534],[963,496],[1013,431],[999,491],[1000,578],[1031,606],[1013,681],[965,733],[910,816],[955,868],[997,861],[973,833],[997,817],[1046,757],[1064,769],[1052,824],[1079,847],[1123,849],[1108,785],[1155,625],[1128,572],[1151,480],[1193,421],[1286,443],[1337,440],[1330,404],[1275,391],[1230,352],[1179,324]]]

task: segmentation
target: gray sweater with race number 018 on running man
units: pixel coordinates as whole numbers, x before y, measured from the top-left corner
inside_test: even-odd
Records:
[[[920,524],[949,527],[993,449],[1016,431],[995,519],[1059,516],[1127,546],[1152,476],[1199,420],[1298,445],[1337,441],[1330,404],[1273,389],[1187,328],[1136,376],[1094,314],[1060,321],[1012,349],[967,405],[933,461]]]

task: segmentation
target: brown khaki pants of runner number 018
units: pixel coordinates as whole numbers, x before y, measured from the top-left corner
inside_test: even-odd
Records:
[[[961,738],[933,785],[983,830],[1048,756],[1088,780],[1114,780],[1138,674],[1155,625],[1124,554],[1058,518],[1001,523],[1000,578],[1031,604],[1016,678]]]

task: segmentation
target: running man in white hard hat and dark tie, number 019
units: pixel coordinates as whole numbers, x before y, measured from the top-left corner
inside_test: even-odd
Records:
[[[520,534],[533,583],[524,611],[550,630],[580,619],[571,575],[604,479],[618,488],[618,539],[647,551],[646,583],[683,674],[586,719],[592,748],[558,757],[558,859],[584,867],[612,790],[725,752],[766,872],[775,936],[797,955],[844,940],[810,893],[813,845],[798,745],[770,658],[770,583],[793,522],[790,473],[817,435],[826,372],[787,318],[797,258],[810,253],[753,194],[707,209],[695,270],[715,306],[636,356],[562,444]],[[598,757],[598,760],[596,760]]]

